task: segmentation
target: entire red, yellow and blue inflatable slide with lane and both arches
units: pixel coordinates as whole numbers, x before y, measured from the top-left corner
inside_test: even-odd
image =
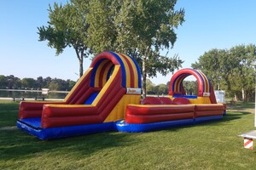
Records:
[[[183,79],[193,75],[198,95],[185,94]],[[183,69],[172,77],[169,97],[141,100],[141,72],[135,59],[103,52],[93,59],[63,102],[20,102],[17,127],[39,139],[56,139],[108,131],[148,132],[219,120],[209,79],[200,71]]]

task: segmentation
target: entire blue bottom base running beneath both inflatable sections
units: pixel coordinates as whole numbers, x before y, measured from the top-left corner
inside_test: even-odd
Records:
[[[98,124],[86,124],[67,127],[41,127],[41,117],[18,119],[17,127],[26,133],[30,133],[38,139],[58,139],[70,136],[78,136],[90,133],[102,133],[109,131],[119,131],[125,133],[146,133],[157,131],[171,127],[181,127],[186,125],[194,125],[201,122],[212,122],[221,120],[223,116],[204,116],[195,119],[182,119],[168,122],[151,122],[144,124],[130,124],[125,120],[118,122],[104,122]]]

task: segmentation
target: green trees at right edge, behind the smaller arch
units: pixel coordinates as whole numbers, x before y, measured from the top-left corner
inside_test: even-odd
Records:
[[[225,90],[232,98],[253,100],[255,62],[256,46],[249,44],[230,49],[212,49],[191,66],[204,72],[215,89]]]

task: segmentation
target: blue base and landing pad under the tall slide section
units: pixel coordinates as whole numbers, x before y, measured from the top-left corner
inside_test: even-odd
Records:
[[[76,136],[90,133],[102,133],[116,131],[115,122],[105,122],[98,124],[86,124],[67,127],[41,127],[41,118],[18,119],[17,127],[38,139],[57,139],[69,136]]]

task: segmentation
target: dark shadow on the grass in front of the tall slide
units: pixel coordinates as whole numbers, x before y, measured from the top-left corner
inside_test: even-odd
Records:
[[[32,158],[34,154],[51,152],[55,155],[87,156],[108,148],[137,144],[134,135],[109,132],[42,141],[19,129],[0,129],[0,160]]]

